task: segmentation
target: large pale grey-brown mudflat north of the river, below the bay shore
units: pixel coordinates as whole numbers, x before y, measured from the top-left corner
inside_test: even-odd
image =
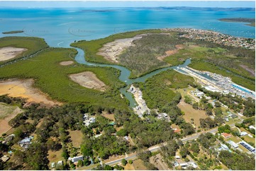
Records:
[[[118,63],[118,55],[123,52],[124,49],[130,46],[134,46],[133,40],[141,39],[144,35],[136,35],[132,38],[118,39],[113,42],[106,43],[97,54],[103,56],[106,60]]]

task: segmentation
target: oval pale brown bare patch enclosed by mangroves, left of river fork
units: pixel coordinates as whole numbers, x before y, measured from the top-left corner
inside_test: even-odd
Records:
[[[80,86],[96,89],[100,91],[106,90],[106,85],[97,78],[95,73],[91,71],[85,71],[82,73],[74,73],[69,75],[72,81],[79,83]]]

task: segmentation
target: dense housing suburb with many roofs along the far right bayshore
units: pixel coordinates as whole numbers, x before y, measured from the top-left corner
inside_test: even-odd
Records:
[[[255,39],[233,37],[231,35],[225,35],[211,30],[199,30],[194,28],[171,28],[165,30],[172,30],[184,33],[179,36],[193,40],[206,40],[208,42],[215,42],[219,45],[255,49]]]

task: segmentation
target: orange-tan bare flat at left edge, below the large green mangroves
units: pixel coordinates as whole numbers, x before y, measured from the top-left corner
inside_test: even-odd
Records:
[[[62,105],[61,102],[51,100],[48,95],[42,93],[38,88],[33,88],[33,83],[33,79],[0,81],[0,95],[8,94],[15,98],[26,98],[27,102],[43,102],[45,105],[50,106]]]

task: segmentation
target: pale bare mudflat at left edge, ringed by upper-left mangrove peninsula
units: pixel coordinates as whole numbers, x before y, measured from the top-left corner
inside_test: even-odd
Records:
[[[1,47],[0,48],[0,61],[6,61],[17,57],[18,54],[25,52],[28,49],[18,47]]]

